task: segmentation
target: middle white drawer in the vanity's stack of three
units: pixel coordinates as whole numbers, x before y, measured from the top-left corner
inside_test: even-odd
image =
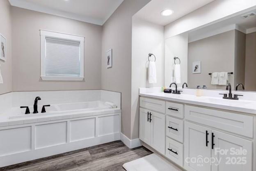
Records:
[[[166,136],[183,143],[184,122],[170,116],[166,116]]]

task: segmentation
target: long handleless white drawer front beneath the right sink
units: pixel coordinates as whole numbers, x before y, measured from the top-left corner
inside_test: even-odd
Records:
[[[253,137],[252,116],[185,105],[185,119],[246,137]]]

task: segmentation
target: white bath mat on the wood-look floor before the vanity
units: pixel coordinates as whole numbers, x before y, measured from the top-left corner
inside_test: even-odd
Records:
[[[175,166],[155,154],[123,164],[126,171],[180,171]]]

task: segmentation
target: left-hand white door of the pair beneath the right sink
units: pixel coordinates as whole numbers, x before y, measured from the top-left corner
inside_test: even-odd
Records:
[[[210,171],[210,162],[200,159],[211,157],[211,130],[193,123],[185,122],[184,167],[187,171]]]

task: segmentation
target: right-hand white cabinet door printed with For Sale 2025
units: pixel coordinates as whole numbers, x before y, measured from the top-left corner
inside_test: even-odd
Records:
[[[212,171],[251,171],[252,142],[212,130],[214,149]],[[244,152],[242,152],[244,150]],[[237,153],[234,153],[237,152]],[[219,164],[217,161],[220,161]]]

